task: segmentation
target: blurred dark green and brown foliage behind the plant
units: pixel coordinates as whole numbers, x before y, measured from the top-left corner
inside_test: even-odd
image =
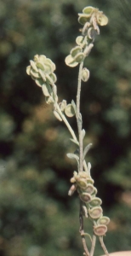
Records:
[[[91,75],[83,83],[83,127],[85,145],[94,145],[87,161],[111,218],[109,252],[131,248],[129,0],[0,0],[1,256],[83,255],[77,194],[67,195],[76,163],[66,153],[75,146],[26,66],[33,55],[47,55],[57,67],[60,101],[75,99],[78,68],[65,67],[65,56],[79,35],[77,13],[88,5],[103,10],[109,25],[100,27],[85,63]]]

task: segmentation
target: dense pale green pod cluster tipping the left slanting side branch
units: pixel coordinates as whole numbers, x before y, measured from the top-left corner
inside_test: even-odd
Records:
[[[26,73],[31,75],[36,84],[43,89],[46,102],[54,102],[53,86],[56,82],[54,74],[55,64],[45,55],[35,55],[34,61],[30,61],[30,66],[26,67]],[[56,97],[55,97],[56,98]]]

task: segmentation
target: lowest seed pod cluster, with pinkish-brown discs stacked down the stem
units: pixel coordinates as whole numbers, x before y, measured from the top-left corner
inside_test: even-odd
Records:
[[[72,195],[72,190],[77,189],[78,195],[83,201],[83,213],[94,223],[94,234],[96,236],[104,236],[107,231],[107,224],[110,218],[103,216],[102,208],[100,207],[102,201],[96,197],[97,189],[94,187],[94,180],[87,172],[74,172],[71,177],[71,190],[69,195]]]

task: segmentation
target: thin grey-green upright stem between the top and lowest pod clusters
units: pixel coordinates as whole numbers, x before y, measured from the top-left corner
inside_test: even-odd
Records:
[[[80,113],[80,97],[81,97],[81,84],[82,84],[82,70],[83,62],[79,66],[78,73],[78,83],[77,83],[77,109],[76,109],[76,118],[77,118],[77,130],[79,137],[79,172],[83,172],[83,132],[82,132],[82,115]]]

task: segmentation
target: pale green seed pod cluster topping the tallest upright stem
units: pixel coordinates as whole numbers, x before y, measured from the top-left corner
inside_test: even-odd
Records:
[[[70,55],[65,58],[65,64],[69,67],[76,67],[84,61],[90,50],[93,48],[94,38],[100,33],[99,26],[105,26],[108,23],[108,18],[99,9],[91,6],[83,9],[83,14],[78,14],[78,22],[83,25],[82,36],[77,37],[77,46],[72,48]],[[85,80],[85,82],[88,80]],[[84,81],[84,80],[83,80]]]

